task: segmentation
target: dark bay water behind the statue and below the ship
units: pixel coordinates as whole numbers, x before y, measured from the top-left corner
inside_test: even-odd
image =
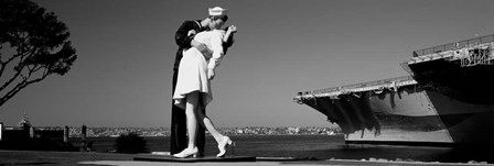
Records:
[[[387,159],[468,163],[494,163],[490,147],[436,147],[405,145],[345,144],[344,135],[229,135],[235,147],[229,155],[291,157],[297,159]],[[116,137],[89,137],[93,151],[111,152]],[[146,137],[149,152],[169,152],[169,136]],[[75,146],[80,140],[72,141]],[[206,137],[205,155],[218,153],[212,136]]]

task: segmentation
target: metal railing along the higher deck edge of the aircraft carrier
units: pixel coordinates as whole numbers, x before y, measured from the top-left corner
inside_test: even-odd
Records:
[[[433,53],[440,53],[440,52],[447,52],[447,51],[454,51],[454,49],[461,49],[464,47],[471,47],[473,45],[484,44],[494,42],[494,34],[474,37],[470,40],[464,40],[460,42],[449,43],[444,45],[439,45],[434,47],[429,47],[425,49],[418,49],[414,52],[414,57],[422,56],[422,55],[429,55]]]

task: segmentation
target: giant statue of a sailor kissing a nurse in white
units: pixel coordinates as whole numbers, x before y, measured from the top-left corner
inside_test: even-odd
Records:
[[[178,158],[204,156],[205,130],[217,142],[217,157],[224,157],[233,141],[219,133],[206,115],[213,100],[215,69],[233,45],[234,25],[222,29],[227,9],[210,8],[204,20],[184,21],[175,33],[179,49],[173,67],[173,104],[170,153]]]

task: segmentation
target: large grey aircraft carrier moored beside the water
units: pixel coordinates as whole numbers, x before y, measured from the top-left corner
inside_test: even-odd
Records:
[[[494,144],[494,35],[412,52],[409,76],[298,92],[346,143]]]

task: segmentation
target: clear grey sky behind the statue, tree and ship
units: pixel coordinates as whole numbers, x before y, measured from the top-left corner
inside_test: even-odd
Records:
[[[412,51],[494,33],[492,0],[35,0],[68,26],[78,59],[31,85],[0,122],[170,128],[174,33],[207,8],[238,27],[212,82],[219,128],[330,126],[299,91],[407,73]]]

